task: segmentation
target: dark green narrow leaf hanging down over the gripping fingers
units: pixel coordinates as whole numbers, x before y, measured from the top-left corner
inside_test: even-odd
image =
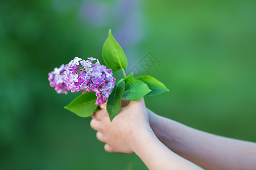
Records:
[[[125,82],[118,82],[113,88],[112,93],[109,95],[108,103],[106,105],[107,111],[109,113],[110,121],[117,115],[121,108],[121,101],[123,91],[125,90]]]

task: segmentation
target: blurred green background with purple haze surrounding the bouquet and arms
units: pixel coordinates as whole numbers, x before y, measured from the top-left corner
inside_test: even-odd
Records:
[[[0,1],[0,169],[146,169],[109,154],[63,107],[48,72],[79,56],[100,59],[108,29],[127,71],[151,52],[150,75],[171,92],[145,97],[155,113],[256,142],[256,1]],[[121,73],[115,73],[121,77]]]

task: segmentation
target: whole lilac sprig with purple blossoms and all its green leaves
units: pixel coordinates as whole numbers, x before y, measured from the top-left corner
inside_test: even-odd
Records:
[[[75,57],[67,65],[56,67],[48,74],[49,84],[58,94],[67,94],[68,91],[82,93],[65,109],[80,117],[89,117],[98,109],[98,105],[107,102],[107,111],[112,121],[121,108],[122,99],[138,101],[145,95],[169,91],[163,83],[151,76],[134,78],[133,73],[126,76],[127,59],[111,29],[102,48],[102,57],[108,68],[96,58],[84,60]],[[124,78],[115,83],[112,70],[122,70]]]

